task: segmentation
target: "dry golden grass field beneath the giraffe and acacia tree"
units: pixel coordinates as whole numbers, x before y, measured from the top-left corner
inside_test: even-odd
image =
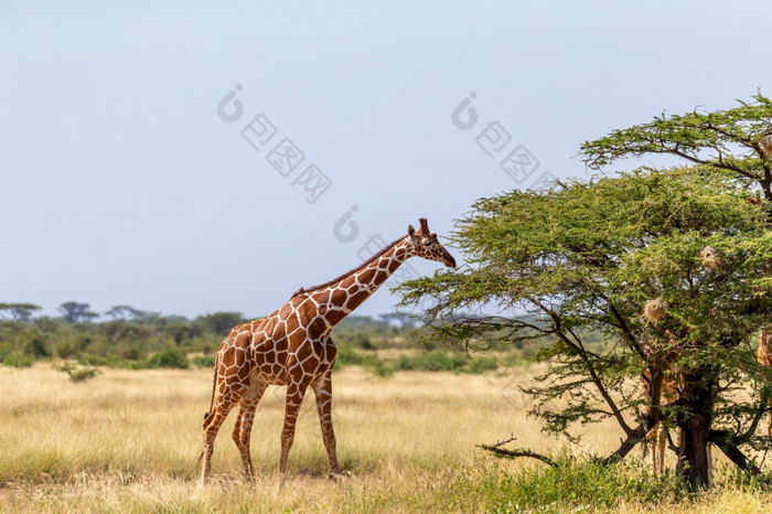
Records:
[[[715,491],[683,497],[668,476],[658,482],[650,478],[658,483],[653,489],[641,485],[645,472],[635,460],[610,471],[577,468],[573,474],[560,475],[536,461],[502,461],[475,448],[514,432],[518,446],[556,452],[560,442],[524,416],[527,399],[514,387],[530,375],[515,368],[486,375],[399,372],[384,378],[346,367],[334,375],[334,420],[339,458],[350,475],[340,481],[326,478],[309,397],[290,453],[288,483],[279,491],[281,388],[269,389],[258,407],[253,431],[257,483],[242,479],[230,440],[232,414],[217,438],[213,480],[201,489],[196,460],[210,403],[210,371],[101,370],[95,378],[74,383],[47,363],[28,370],[3,366],[0,511],[772,508],[772,494],[752,484],[737,485],[721,461],[717,474],[723,479]],[[593,426],[585,446],[572,451],[602,453],[614,448],[619,437],[612,424]],[[620,490],[626,492],[616,496]],[[603,500],[603,494],[615,496]]]

